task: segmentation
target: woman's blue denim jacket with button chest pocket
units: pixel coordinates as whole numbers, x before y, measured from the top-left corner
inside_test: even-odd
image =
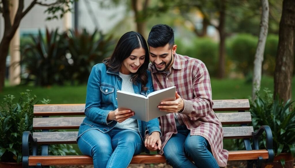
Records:
[[[148,89],[142,91],[141,83],[137,82],[136,85],[133,84],[134,93],[147,96],[150,92],[154,91],[150,71],[147,71],[147,73],[148,83],[146,87]],[[118,108],[116,91],[121,90],[121,87],[122,78],[119,76],[119,72],[106,69],[106,65],[103,63],[93,66],[87,84],[86,117],[79,128],[78,138],[84,132],[91,129],[98,129],[105,133],[115,127],[117,122],[107,121],[106,118],[109,112]],[[137,120],[137,123],[143,142],[146,131],[149,134],[155,131],[160,132],[158,118],[152,119],[149,122]]]

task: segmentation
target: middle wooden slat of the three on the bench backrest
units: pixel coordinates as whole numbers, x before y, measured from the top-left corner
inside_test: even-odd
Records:
[[[222,124],[249,124],[250,112],[216,113]],[[33,129],[78,129],[84,117],[34,118]]]

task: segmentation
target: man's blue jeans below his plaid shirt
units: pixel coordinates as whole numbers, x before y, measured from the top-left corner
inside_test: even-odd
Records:
[[[191,136],[190,130],[185,125],[178,126],[177,132],[172,135],[163,149],[167,161],[173,168],[219,168],[212,153],[208,150],[210,144],[204,137]],[[187,156],[191,157],[194,163]]]

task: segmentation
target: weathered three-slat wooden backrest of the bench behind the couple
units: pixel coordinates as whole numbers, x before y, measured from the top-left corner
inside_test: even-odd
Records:
[[[250,112],[244,112],[250,109],[248,99],[213,100],[213,103],[213,110],[217,112],[216,115],[222,123],[224,139],[252,137],[252,126],[226,126],[227,124],[249,124],[252,122]],[[78,129],[85,117],[84,109],[85,104],[34,105],[34,116],[36,118],[33,119],[33,129],[41,129],[45,132],[34,132],[33,137],[37,138],[38,144],[77,143],[78,131],[58,132],[56,130]],[[50,130],[50,132],[47,132],[47,130]]]

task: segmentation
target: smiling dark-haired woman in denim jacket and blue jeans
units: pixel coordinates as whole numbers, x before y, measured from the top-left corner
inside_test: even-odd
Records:
[[[134,112],[117,108],[118,90],[145,96],[153,92],[148,63],[145,39],[131,31],[119,39],[110,58],[92,68],[87,84],[86,117],[77,141],[81,152],[93,157],[94,168],[127,167],[132,156],[142,152],[144,144],[150,150],[160,148],[158,119],[143,122],[130,118]]]

